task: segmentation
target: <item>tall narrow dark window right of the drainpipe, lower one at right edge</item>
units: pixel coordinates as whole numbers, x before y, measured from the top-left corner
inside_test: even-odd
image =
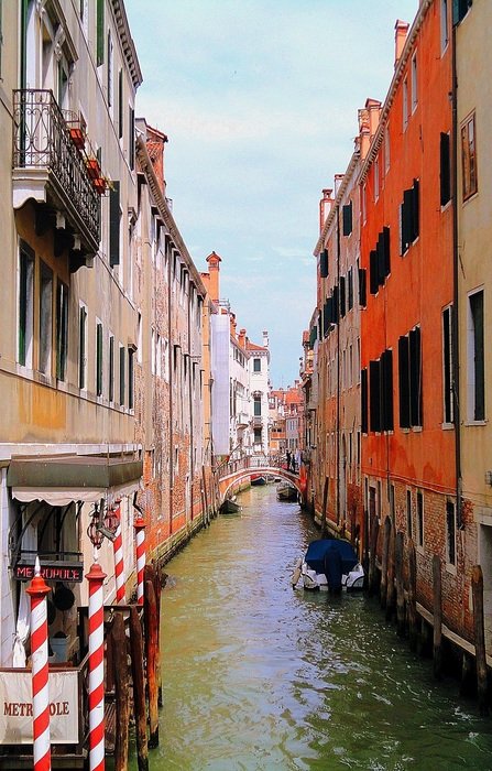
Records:
[[[485,420],[485,370],[483,347],[483,291],[469,296],[468,313],[468,416]]]

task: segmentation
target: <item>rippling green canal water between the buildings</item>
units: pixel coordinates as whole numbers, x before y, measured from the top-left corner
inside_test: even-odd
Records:
[[[492,717],[436,684],[376,604],[292,589],[310,517],[275,486],[240,502],[166,567],[151,770],[492,770]]]

